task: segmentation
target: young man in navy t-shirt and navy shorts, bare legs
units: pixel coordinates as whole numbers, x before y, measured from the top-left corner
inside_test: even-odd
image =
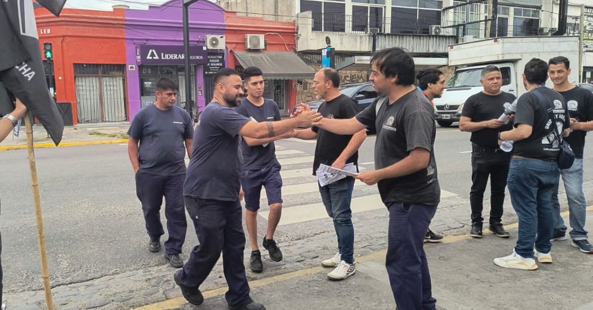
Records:
[[[243,80],[247,98],[241,100],[241,106],[235,108],[235,111],[258,123],[279,121],[278,104],[262,96],[265,83],[262,70],[257,67],[247,67],[243,71]],[[276,159],[274,141],[291,138],[295,134],[295,130],[291,130],[272,138],[254,139],[245,136],[241,142],[244,161],[241,187],[245,193],[245,224],[251,241],[249,267],[253,272],[263,271],[262,253],[257,245],[257,210],[260,208],[262,186],[266,188],[267,204],[270,206],[266,235],[263,237],[262,245],[273,261],[282,260],[282,251],[274,241],[274,232],[282,213],[282,177],[280,177],[280,163]]]

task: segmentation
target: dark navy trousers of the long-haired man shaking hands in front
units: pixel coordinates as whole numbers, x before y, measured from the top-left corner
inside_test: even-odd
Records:
[[[391,203],[385,267],[397,308],[435,310],[431,273],[424,253],[424,237],[436,207]]]

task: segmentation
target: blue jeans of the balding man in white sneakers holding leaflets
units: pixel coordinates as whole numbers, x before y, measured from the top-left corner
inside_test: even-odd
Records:
[[[350,177],[319,187],[327,215],[334,222],[337,246],[342,254],[342,260],[348,264],[354,263],[354,226],[352,226],[352,210],[350,209],[353,189],[354,179]]]

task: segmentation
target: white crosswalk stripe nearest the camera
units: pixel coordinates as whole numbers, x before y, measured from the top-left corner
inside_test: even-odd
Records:
[[[356,197],[352,199],[350,204],[352,213],[365,212],[377,209],[385,209],[385,204],[381,201],[379,194]],[[260,216],[267,219],[269,211],[259,212]],[[279,226],[289,225],[294,223],[307,222],[309,220],[328,218],[326,207],[323,203],[307,204],[305,206],[285,207],[282,208],[282,218],[280,218]]]

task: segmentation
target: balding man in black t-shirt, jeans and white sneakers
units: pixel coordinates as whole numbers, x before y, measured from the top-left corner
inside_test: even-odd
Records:
[[[313,88],[317,95],[325,100],[318,113],[328,119],[350,119],[360,111],[356,101],[340,94],[340,75],[334,69],[321,69],[315,73]],[[366,129],[361,128],[350,135],[335,133],[313,126],[310,129],[297,130],[297,138],[311,140],[317,138],[313,175],[320,164],[342,169],[346,164],[358,167],[358,148],[366,139]],[[321,262],[323,267],[335,267],[327,274],[330,280],[343,280],[354,274],[354,227],[352,226],[352,190],[354,179],[346,177],[326,186],[319,186],[321,199],[327,215],[333,219],[336,229],[338,250],[334,257]]]

